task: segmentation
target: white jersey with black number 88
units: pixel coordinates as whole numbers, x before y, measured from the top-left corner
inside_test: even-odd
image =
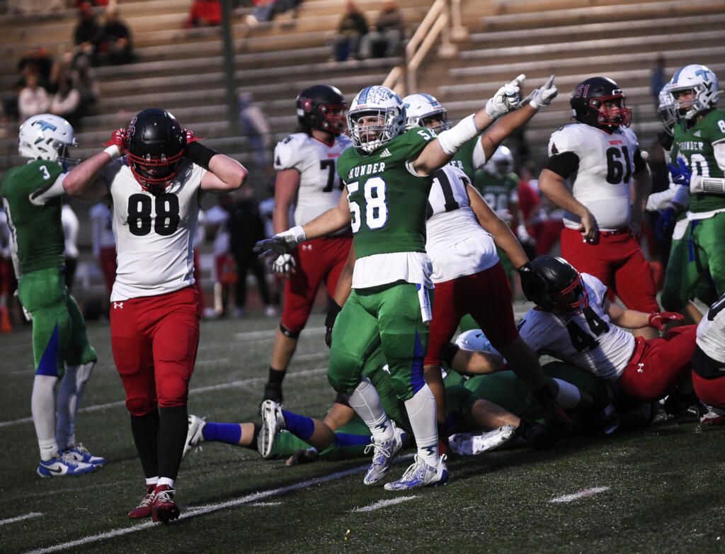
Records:
[[[187,160],[162,194],[141,189],[122,159],[101,177],[112,197],[117,270],[111,301],[166,294],[194,284],[193,241],[207,170]]]

